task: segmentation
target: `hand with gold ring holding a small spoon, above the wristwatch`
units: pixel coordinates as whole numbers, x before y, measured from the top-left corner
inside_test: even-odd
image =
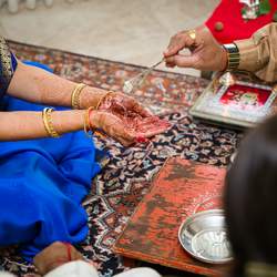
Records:
[[[191,53],[181,53],[184,49]],[[227,64],[226,51],[205,25],[173,35],[164,58],[168,68],[222,71]]]

